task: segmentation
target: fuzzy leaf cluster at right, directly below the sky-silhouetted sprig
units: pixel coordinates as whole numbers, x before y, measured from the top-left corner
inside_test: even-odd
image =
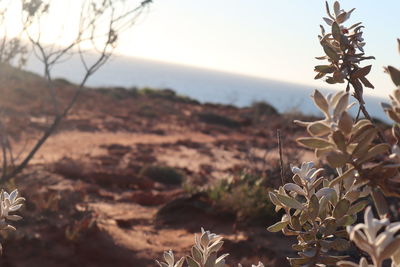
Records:
[[[331,181],[337,184],[348,179],[349,172],[355,171],[357,184],[368,183],[378,186],[387,196],[400,196],[393,157],[388,157],[393,148],[379,139],[379,129],[368,119],[355,121],[349,115],[349,94],[338,92],[335,95],[322,95],[318,90],[312,96],[315,105],[325,118],[314,122],[295,121],[307,128],[310,137],[297,139],[304,147],[313,149],[319,159],[325,159],[332,168],[341,168],[343,174]],[[393,104],[387,107],[396,109],[400,91],[395,91]],[[400,111],[399,107],[397,109]],[[394,136],[400,136],[394,127]],[[395,148],[395,147],[394,147]],[[376,161],[381,161],[377,164]],[[378,175],[379,174],[379,175]]]

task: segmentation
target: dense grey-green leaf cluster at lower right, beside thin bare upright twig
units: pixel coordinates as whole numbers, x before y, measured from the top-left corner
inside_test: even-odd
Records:
[[[292,248],[299,257],[288,258],[292,266],[335,264],[342,257],[331,252],[350,247],[345,227],[353,224],[357,213],[367,205],[360,200],[367,192],[355,183],[333,184],[320,176],[323,169],[314,168],[312,162],[292,166],[292,172],[292,183],[269,194],[276,211],[283,209],[285,214],[268,230],[297,237]],[[351,172],[348,177],[354,175]]]

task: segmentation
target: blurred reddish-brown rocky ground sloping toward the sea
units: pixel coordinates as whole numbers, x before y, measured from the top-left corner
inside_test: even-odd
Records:
[[[49,125],[48,85],[31,73],[0,71],[3,124],[23,156]],[[62,107],[75,86],[55,84]],[[243,169],[279,185],[277,129],[285,166],[313,158],[294,142],[304,135],[292,124],[299,116],[265,103],[200,104],[171,90],[86,89],[29,167],[3,184],[27,202],[18,231],[2,233],[1,266],[155,266],[164,250],[188,253],[200,227],[224,236],[230,266],[287,266],[293,240],[266,231],[272,218],[238,221],[188,187]],[[148,166],[173,168],[182,183],[155,179]]]

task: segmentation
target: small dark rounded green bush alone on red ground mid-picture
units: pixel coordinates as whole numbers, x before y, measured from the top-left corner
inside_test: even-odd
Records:
[[[180,185],[184,179],[183,173],[176,168],[162,165],[143,166],[139,175],[168,185]]]

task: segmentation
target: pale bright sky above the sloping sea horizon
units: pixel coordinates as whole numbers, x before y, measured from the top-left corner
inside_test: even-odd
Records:
[[[73,14],[79,11],[79,0],[53,3],[60,3],[55,8],[59,14],[53,18],[76,27]],[[373,93],[386,96],[394,86],[383,73],[383,66],[400,66],[396,44],[400,37],[400,1],[343,0],[341,4],[345,10],[356,8],[349,24],[362,21],[366,27],[365,51],[376,60],[364,64],[373,64],[369,76],[376,87]],[[323,55],[317,39],[323,16],[322,0],[153,0],[139,22],[120,37],[116,52],[332,88],[313,79],[314,66],[321,64],[315,57]],[[11,18],[14,26],[15,15]],[[49,41],[60,37],[57,23],[47,25]],[[68,39],[68,30],[61,37],[61,42]]]

